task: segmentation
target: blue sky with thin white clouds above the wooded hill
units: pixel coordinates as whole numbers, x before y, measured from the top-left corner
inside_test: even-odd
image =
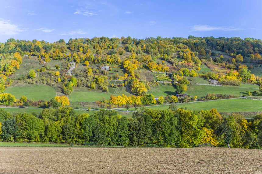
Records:
[[[0,42],[80,37],[254,37],[261,0],[0,0]]]

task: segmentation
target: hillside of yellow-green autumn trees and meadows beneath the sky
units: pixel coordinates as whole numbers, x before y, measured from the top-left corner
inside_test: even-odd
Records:
[[[243,45],[235,50],[236,41]],[[8,39],[0,47],[0,92],[14,95],[17,106],[50,107],[46,101],[65,95],[71,107],[93,109],[210,100],[208,94],[223,95],[215,99],[260,95],[261,45],[252,38],[193,36],[95,37],[68,43]],[[221,86],[212,86],[209,79]],[[188,97],[175,97],[184,93]],[[252,102],[245,106],[258,111]]]

